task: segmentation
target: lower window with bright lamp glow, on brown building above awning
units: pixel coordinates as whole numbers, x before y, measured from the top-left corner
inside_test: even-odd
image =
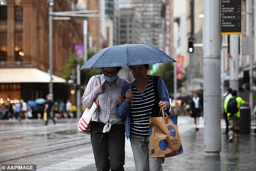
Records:
[[[23,35],[22,32],[17,32],[14,34],[14,53],[15,53],[15,60],[16,61],[22,61],[24,52],[23,52]]]

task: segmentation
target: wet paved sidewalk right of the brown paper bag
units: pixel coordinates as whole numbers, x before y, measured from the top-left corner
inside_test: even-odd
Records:
[[[221,129],[221,152],[209,156],[204,152],[204,129],[193,129],[181,134],[184,153],[166,158],[166,171],[256,171],[256,136],[241,134],[239,142],[228,142]]]

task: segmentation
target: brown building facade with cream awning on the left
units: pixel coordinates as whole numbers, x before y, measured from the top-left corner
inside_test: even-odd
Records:
[[[53,11],[71,10],[70,0],[55,0]],[[45,98],[50,82],[48,2],[0,0],[0,97]],[[61,78],[75,44],[82,43],[82,26],[71,20],[53,21],[52,64],[55,100],[71,99],[72,87]],[[69,40],[69,41],[67,41]]]

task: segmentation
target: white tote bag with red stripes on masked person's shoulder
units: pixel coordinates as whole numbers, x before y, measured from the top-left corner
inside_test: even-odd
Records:
[[[99,107],[99,104],[96,101],[94,101],[94,103],[92,104],[92,106],[90,108],[84,110],[84,113],[78,122],[78,131],[79,132],[82,132],[84,134],[91,133],[92,116],[95,113],[95,111],[98,109],[98,107]]]

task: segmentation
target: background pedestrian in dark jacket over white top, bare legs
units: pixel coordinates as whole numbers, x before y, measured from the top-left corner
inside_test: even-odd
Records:
[[[202,105],[200,102],[200,98],[198,97],[197,93],[194,93],[191,99],[191,103],[189,105],[189,113],[191,114],[191,117],[194,118],[196,131],[199,130],[199,117],[201,116],[201,109]]]

